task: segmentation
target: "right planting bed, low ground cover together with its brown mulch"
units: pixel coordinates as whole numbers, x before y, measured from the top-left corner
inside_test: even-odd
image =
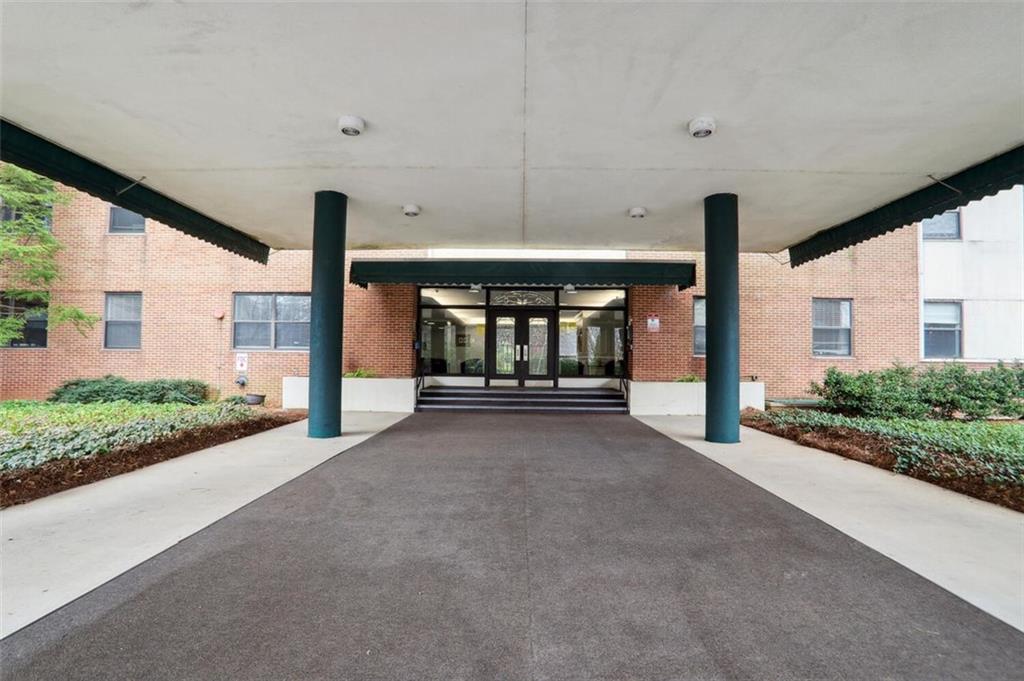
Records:
[[[748,412],[743,424],[1024,512],[1024,425]]]

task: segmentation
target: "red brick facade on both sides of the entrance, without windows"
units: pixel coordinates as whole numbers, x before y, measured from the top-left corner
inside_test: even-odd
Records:
[[[276,252],[268,265],[250,262],[155,222],[144,235],[106,233],[109,205],[86,195],[60,206],[54,233],[66,250],[63,280],[54,301],[101,314],[104,292],[142,292],[142,347],[103,349],[102,325],[85,336],[65,327],[45,349],[0,349],[0,398],[43,397],[78,377],[120,374],[127,378],[180,377],[209,382],[224,395],[238,394],[231,349],[232,292],[307,292],[310,256]],[[771,396],[803,394],[828,366],[876,369],[919,359],[915,228],[905,228],[792,269],[783,256],[740,257],[740,370],[767,384]],[[351,257],[424,256],[423,251],[355,251]],[[684,292],[636,287],[630,295],[634,321],[632,374],[637,380],[703,375],[692,354],[694,295],[703,292],[700,253],[636,252],[631,258],[697,262],[697,286]],[[2,282],[0,282],[2,285]],[[2,286],[0,286],[2,288]],[[853,299],[853,357],[818,358],[811,353],[811,298]],[[215,313],[223,312],[218,320]],[[380,376],[415,371],[416,288],[347,286],[344,368]],[[656,313],[660,331],[646,330]],[[302,351],[245,350],[249,391],[280,403],[281,378],[303,376]]]

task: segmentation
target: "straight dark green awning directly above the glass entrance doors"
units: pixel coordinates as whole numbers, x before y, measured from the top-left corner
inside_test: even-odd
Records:
[[[349,281],[420,286],[693,286],[692,262],[662,260],[354,260]]]

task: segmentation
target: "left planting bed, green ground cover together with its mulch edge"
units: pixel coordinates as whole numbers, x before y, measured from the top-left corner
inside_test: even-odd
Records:
[[[302,418],[233,402],[0,402],[0,506]]]

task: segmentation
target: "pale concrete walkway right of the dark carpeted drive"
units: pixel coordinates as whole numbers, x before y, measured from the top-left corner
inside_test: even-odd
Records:
[[[751,428],[703,440],[703,418],[640,421],[1024,630],[1024,514]]]

